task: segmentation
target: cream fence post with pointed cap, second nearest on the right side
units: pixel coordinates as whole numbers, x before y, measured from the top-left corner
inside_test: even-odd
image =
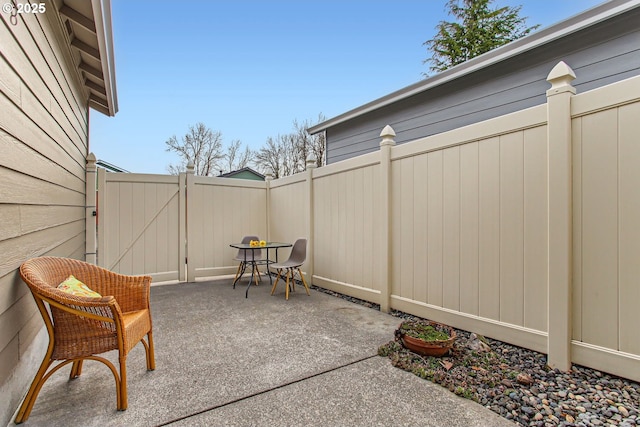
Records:
[[[388,313],[391,298],[391,148],[396,145],[393,139],[396,133],[387,125],[380,136],[380,311]]]

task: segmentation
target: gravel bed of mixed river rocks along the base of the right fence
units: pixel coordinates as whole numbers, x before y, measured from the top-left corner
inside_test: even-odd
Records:
[[[313,286],[320,292],[379,310],[379,305]],[[394,311],[403,319],[415,316]],[[454,348],[442,358],[417,355],[397,340],[378,354],[415,375],[474,400],[523,426],[640,426],[640,384],[573,365],[546,366],[546,355],[456,329]],[[390,337],[393,338],[393,337]],[[489,350],[478,349],[478,341]],[[482,344],[481,344],[482,345]],[[473,348],[473,349],[472,349]]]

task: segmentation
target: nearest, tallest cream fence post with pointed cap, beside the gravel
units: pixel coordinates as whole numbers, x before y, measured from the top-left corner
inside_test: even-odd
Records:
[[[547,364],[571,369],[572,171],[571,97],[575,73],[559,62],[547,81],[549,254]]]

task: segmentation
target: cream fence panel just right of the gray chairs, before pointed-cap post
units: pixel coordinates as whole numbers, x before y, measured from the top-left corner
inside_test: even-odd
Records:
[[[379,303],[386,286],[380,155],[313,171],[313,283]]]

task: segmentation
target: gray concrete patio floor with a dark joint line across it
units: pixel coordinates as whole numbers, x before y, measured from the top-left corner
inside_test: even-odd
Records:
[[[397,318],[301,287],[285,301],[268,280],[245,298],[246,283],[153,286],[156,370],[129,354],[128,409],[89,361],[76,380],[56,372],[24,425],[514,425],[378,357]]]

